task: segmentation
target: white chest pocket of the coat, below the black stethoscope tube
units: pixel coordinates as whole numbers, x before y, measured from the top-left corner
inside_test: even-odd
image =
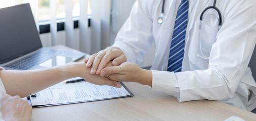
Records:
[[[218,25],[215,22],[212,24],[212,26],[207,23],[201,25],[200,21],[196,21],[192,31],[189,32],[190,43],[188,57],[192,64],[203,64],[206,66],[209,63],[209,59],[205,59],[204,56],[210,56],[212,45],[216,42],[218,33]]]

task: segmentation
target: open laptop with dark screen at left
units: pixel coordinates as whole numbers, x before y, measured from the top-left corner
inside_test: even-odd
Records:
[[[42,47],[29,4],[0,9],[0,67],[33,70],[67,64],[84,55]]]

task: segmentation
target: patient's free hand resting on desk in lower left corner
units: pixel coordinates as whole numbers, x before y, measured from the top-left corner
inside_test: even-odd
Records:
[[[30,120],[32,107],[19,96],[6,95],[1,100],[1,112],[4,120]]]

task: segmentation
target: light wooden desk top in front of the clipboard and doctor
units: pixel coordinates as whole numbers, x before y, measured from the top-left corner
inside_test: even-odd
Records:
[[[256,114],[219,101],[180,103],[176,97],[152,91],[149,86],[132,82],[124,85],[133,97],[35,108],[31,120],[225,120],[230,116],[256,120]]]

